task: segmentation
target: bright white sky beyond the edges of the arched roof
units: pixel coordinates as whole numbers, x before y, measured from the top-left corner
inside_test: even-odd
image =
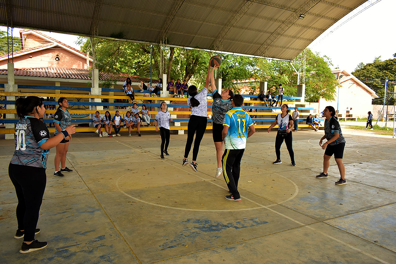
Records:
[[[372,62],[374,57],[393,59],[396,52],[395,12],[396,0],[381,0],[322,40],[323,36],[338,25],[336,23],[308,47],[321,55],[327,55],[333,62],[334,69],[338,67],[349,73],[354,71],[358,63]],[[7,28],[0,27],[0,30],[7,31]],[[13,35],[19,36],[19,30],[14,29]],[[75,44],[78,36],[49,32],[44,34],[80,50]]]

